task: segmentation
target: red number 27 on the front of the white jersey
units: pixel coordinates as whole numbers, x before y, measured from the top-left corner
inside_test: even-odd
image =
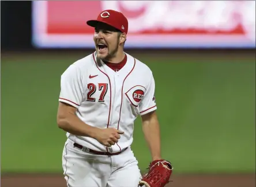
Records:
[[[96,92],[97,86],[93,83],[89,83],[87,85],[87,88],[89,89],[89,92],[87,93],[86,100],[88,100],[89,102],[95,102],[96,99],[93,97],[93,94]],[[99,91],[101,91],[100,98],[99,98],[98,102],[104,102],[104,98],[108,91],[108,84],[107,83],[99,83],[98,89],[99,89]]]

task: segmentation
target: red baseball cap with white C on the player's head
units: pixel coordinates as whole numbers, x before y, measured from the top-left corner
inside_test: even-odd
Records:
[[[97,20],[89,20],[86,24],[95,28],[99,22],[108,24],[123,33],[127,34],[128,32],[128,20],[125,15],[119,11],[103,10],[98,15]]]

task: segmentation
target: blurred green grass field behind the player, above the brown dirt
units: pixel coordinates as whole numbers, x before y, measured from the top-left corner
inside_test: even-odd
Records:
[[[1,60],[1,172],[62,172],[59,80],[80,57]],[[162,153],[176,173],[255,171],[255,61],[138,58],[155,76]],[[145,170],[140,118],[132,148]]]

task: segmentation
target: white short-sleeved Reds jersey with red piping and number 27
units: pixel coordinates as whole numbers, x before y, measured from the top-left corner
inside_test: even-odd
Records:
[[[133,142],[134,120],[156,110],[152,71],[127,54],[125,66],[113,71],[96,52],[71,64],[61,76],[60,102],[77,108],[77,116],[90,126],[114,127],[125,133],[118,143],[106,147],[96,139],[67,133],[67,138],[96,151],[115,153]]]

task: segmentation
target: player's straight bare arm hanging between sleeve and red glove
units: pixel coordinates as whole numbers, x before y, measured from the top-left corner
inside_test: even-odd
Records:
[[[148,143],[152,160],[161,159],[160,127],[156,112],[142,115],[142,130]]]

